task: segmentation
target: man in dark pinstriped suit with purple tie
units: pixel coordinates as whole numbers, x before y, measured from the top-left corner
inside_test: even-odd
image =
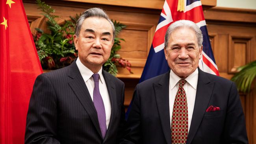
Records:
[[[115,144],[124,121],[124,83],[102,65],[115,28],[99,8],[76,24],[78,59],[35,80],[27,115],[26,144]]]

